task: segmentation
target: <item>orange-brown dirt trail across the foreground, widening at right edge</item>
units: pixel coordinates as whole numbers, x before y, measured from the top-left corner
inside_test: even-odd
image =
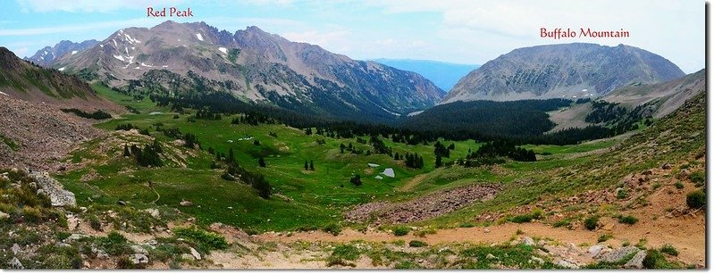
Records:
[[[612,234],[614,238],[609,239],[605,244],[619,247],[622,242],[628,241],[632,245],[637,244],[641,238],[647,239],[647,245],[657,248],[663,244],[674,245],[679,250],[678,260],[687,263],[704,263],[706,252],[704,218],[701,212],[697,216],[683,217],[687,220],[659,219],[653,221],[643,221],[633,226],[616,223],[610,230],[589,231],[584,228],[570,230],[567,228],[553,228],[542,223],[506,223],[491,226],[488,228],[453,228],[441,229],[435,234],[426,237],[415,237],[408,235],[396,237],[383,231],[367,231],[365,233],[345,229],[339,236],[322,231],[298,232],[291,236],[285,234],[263,234],[256,236],[257,239],[271,242],[291,243],[296,241],[307,242],[337,242],[346,243],[354,240],[364,240],[369,242],[391,242],[396,240],[410,241],[418,239],[425,241],[429,245],[472,242],[481,244],[500,244],[508,242],[516,235],[517,230],[523,231],[528,237],[546,237],[562,242],[564,245],[573,243],[575,245],[588,244],[595,245],[598,237],[602,234]],[[604,220],[606,222],[617,222],[616,220]],[[586,248],[586,247],[584,247]]]

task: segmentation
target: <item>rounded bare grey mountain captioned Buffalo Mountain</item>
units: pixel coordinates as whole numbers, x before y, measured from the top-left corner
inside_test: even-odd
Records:
[[[459,80],[441,103],[599,96],[684,75],[674,63],[634,46],[531,46],[486,62]]]

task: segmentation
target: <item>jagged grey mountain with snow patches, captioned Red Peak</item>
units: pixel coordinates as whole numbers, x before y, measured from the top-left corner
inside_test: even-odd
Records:
[[[151,92],[173,94],[178,88],[174,79],[189,79],[246,101],[338,117],[362,113],[366,120],[396,119],[432,106],[443,94],[414,72],[355,61],[256,27],[231,34],[205,22],[120,29],[97,46],[63,56],[53,67],[113,87],[146,79],[152,71],[164,77],[151,79],[158,81],[150,83]]]

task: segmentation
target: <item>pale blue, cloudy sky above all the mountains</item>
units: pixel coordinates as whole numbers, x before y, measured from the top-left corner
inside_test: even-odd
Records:
[[[704,68],[703,0],[4,0],[0,46],[24,57],[61,40],[104,40],[162,21],[206,21],[234,33],[257,26],[358,60],[483,64],[524,46],[625,44],[691,73]],[[190,8],[189,18],[149,18],[147,7]],[[541,37],[541,29],[625,29],[630,37]]]

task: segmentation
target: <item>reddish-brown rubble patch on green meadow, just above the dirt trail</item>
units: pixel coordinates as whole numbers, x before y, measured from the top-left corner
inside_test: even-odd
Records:
[[[449,189],[405,203],[365,203],[345,212],[345,219],[366,221],[374,217],[375,222],[386,223],[426,220],[454,212],[470,203],[491,200],[498,191],[498,186],[472,185]]]

